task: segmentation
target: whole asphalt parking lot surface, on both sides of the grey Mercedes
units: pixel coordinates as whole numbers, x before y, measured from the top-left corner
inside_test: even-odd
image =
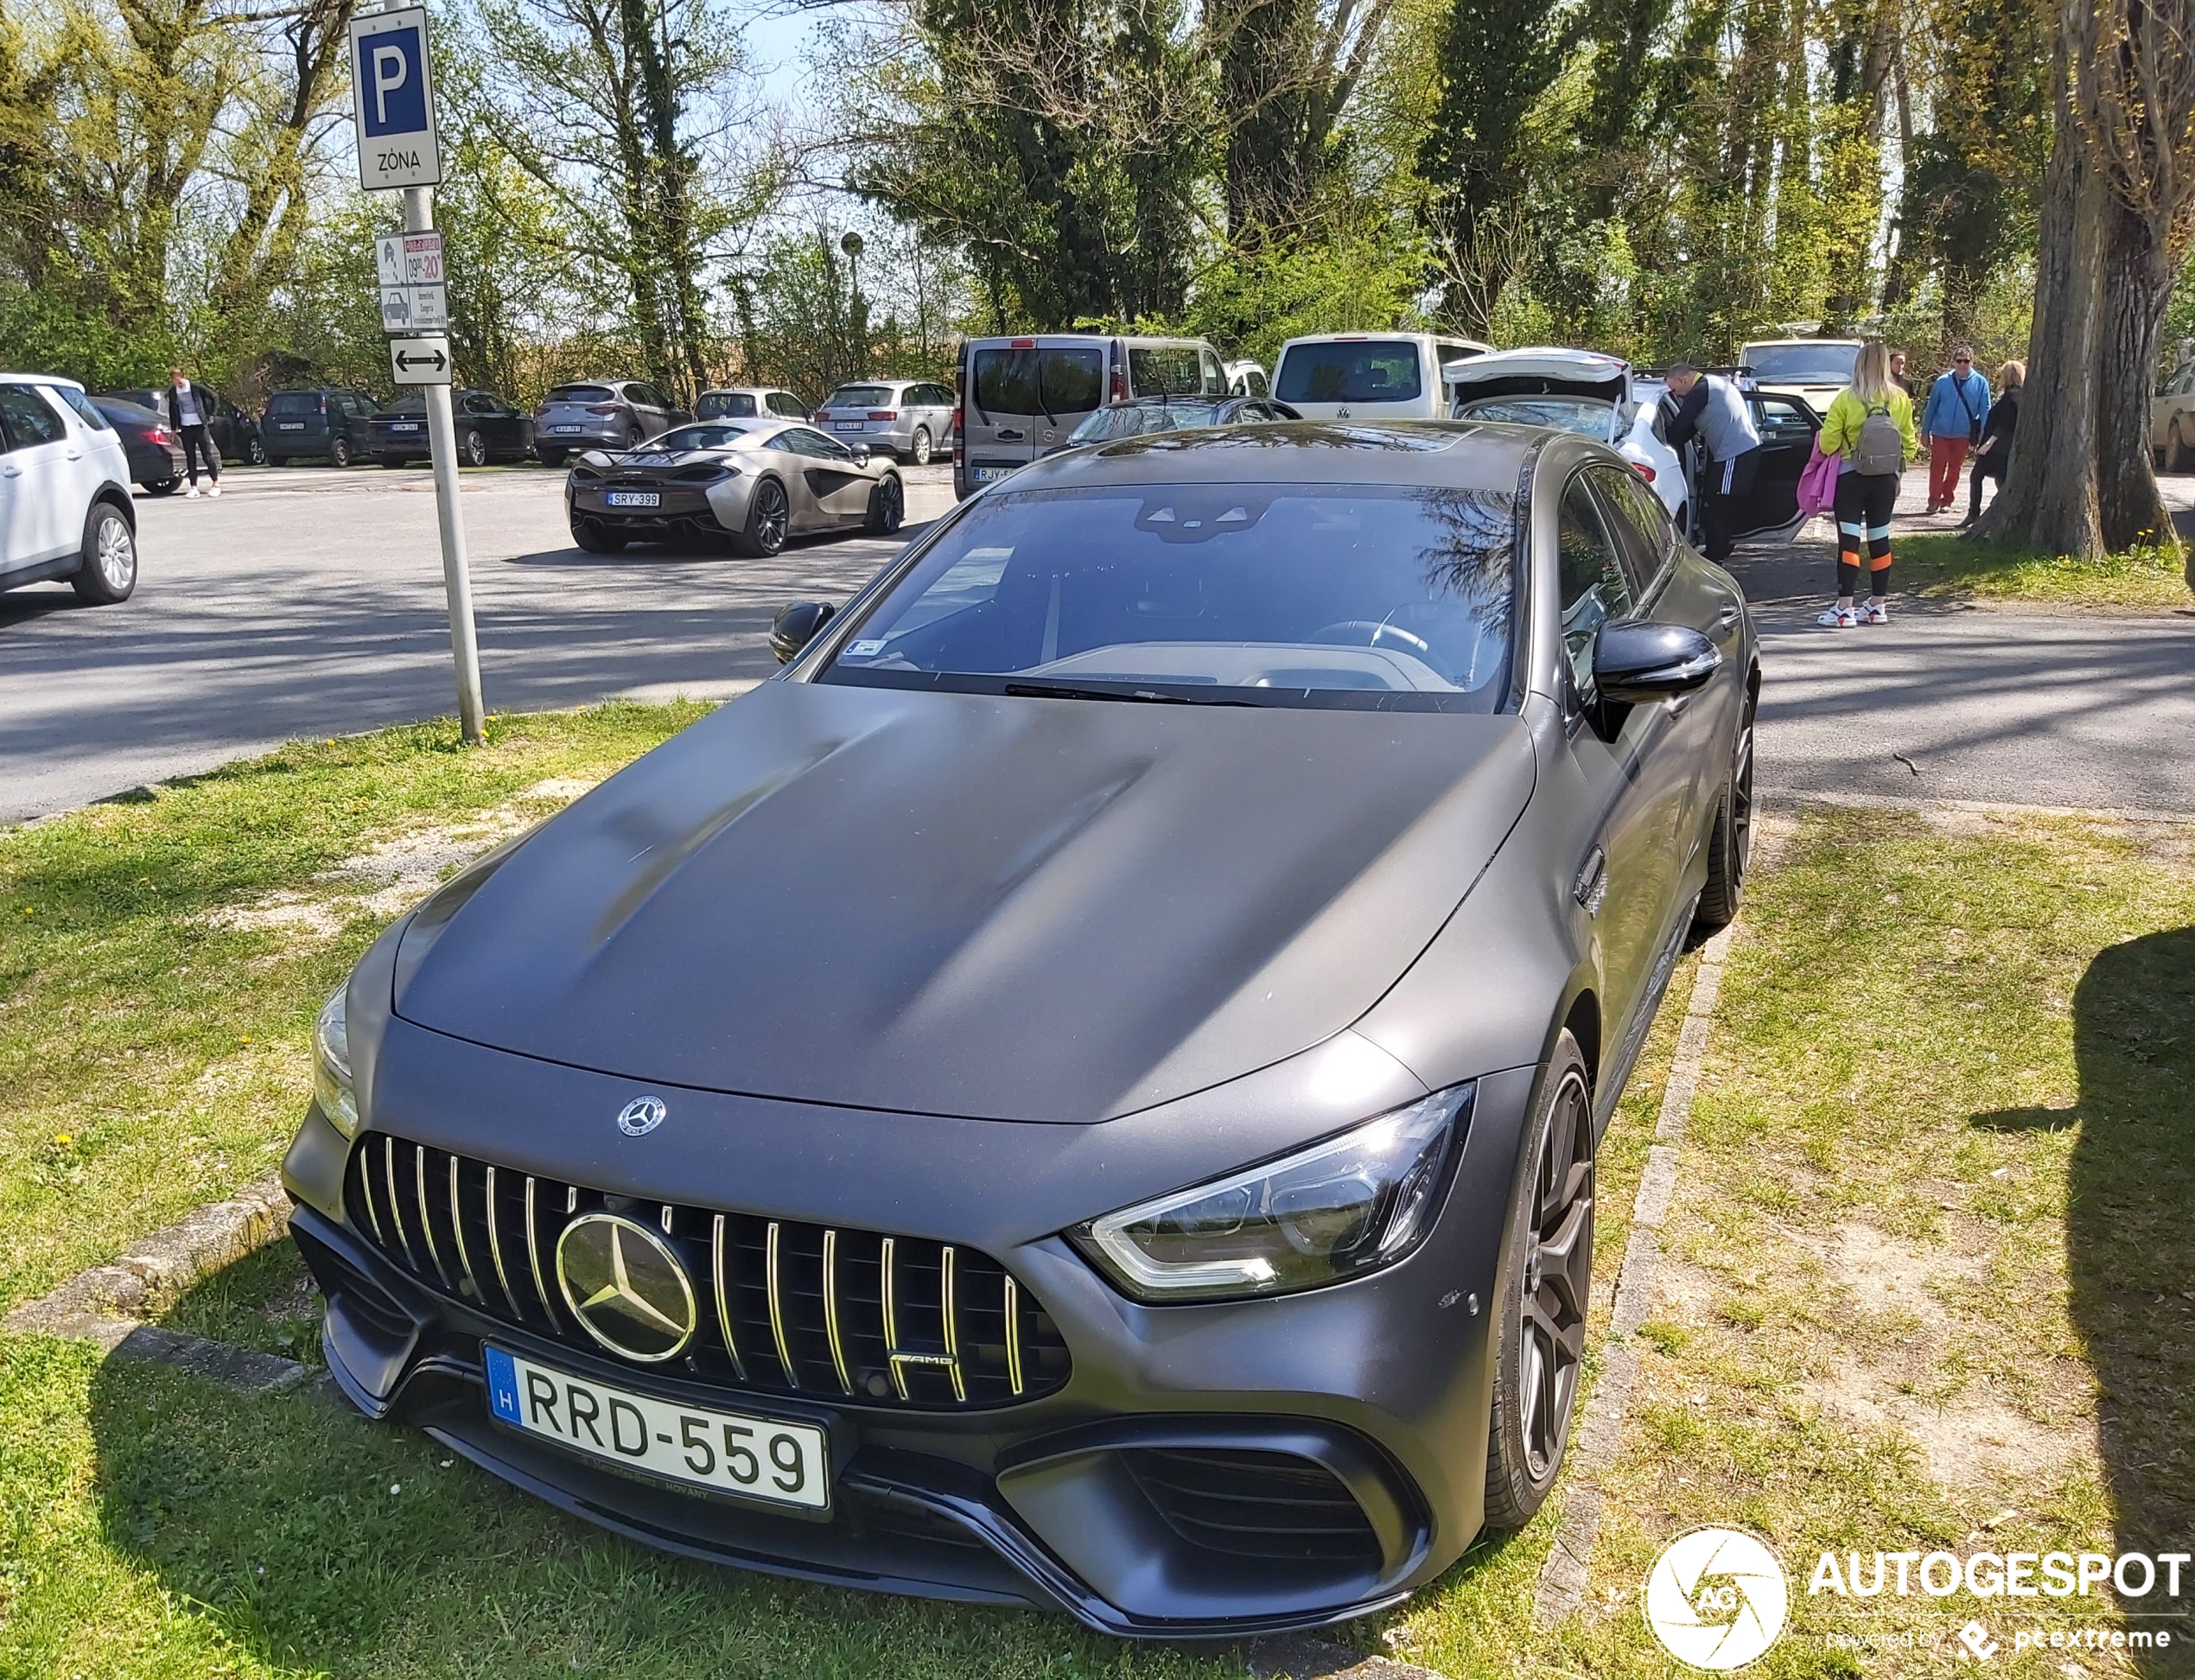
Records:
[[[465,472],[489,709],[718,696],[768,676],[779,606],[843,602],[953,505],[950,468],[904,477],[900,538],[806,538],[738,560],[582,553],[562,472]],[[426,468],[233,468],[222,485],[219,501],[138,499],[143,575],[123,606],[81,606],[66,584],[0,595],[0,821],[292,736],[457,709]],[[1918,474],[1907,490],[1921,496]],[[2184,507],[2195,479],[2164,490]],[[1820,630],[1824,527],[1789,549],[1745,547],[1734,569],[1763,630],[1763,786],[2195,810],[2195,615],[1901,600],[1888,628]]]

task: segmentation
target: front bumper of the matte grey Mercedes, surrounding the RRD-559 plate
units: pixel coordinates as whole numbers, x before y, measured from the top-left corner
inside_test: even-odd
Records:
[[[1348,1285],[1148,1309],[1117,1296],[1056,1236],[1008,1245],[994,1232],[968,1232],[970,1247],[994,1254],[1043,1302],[1071,1353],[1071,1375],[1056,1392],[977,1408],[764,1395],[518,1329],[463,1291],[393,1265],[353,1225],[342,1201],[351,1144],[318,1111],[292,1149],[285,1181],[299,1201],[292,1232],[329,1300],[329,1370],[353,1403],[369,1416],[426,1427],[575,1515],[773,1575],[1034,1603],[1122,1636],[1247,1636],[1389,1605],[1447,1568],[1477,1533],[1493,1318],[1484,1304],[1499,1300],[1512,1131],[1528,1096],[1530,1069],[1482,1080],[1464,1164],[1433,1236],[1403,1265]],[[683,1113],[698,1100],[678,1096]],[[922,1129],[920,1118],[907,1120],[909,1133]],[[920,1171],[913,1162],[944,1157],[935,1140],[911,1135],[904,1160],[880,1168],[878,1195],[904,1217],[902,1197]],[[696,1195],[685,1177],[674,1181],[683,1197]],[[751,1181],[740,1201],[766,1195]],[[847,1208],[871,1228],[878,1212]],[[823,1427],[836,1482],[830,1520],[604,1469],[496,1423],[483,1340],[672,1403]],[[1317,1467],[1357,1502],[1372,1544],[1348,1557],[1214,1546],[1196,1511],[1183,1515],[1144,1471],[1177,1456],[1209,1463],[1231,1454]],[[1288,1487],[1271,1491],[1286,1496]]]

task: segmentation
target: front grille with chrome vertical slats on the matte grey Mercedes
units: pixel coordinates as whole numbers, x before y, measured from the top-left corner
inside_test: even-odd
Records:
[[[351,1228],[428,1289],[487,1318],[597,1351],[558,1287],[555,1245],[584,1212],[661,1232],[694,1287],[687,1375],[878,1405],[1008,1405],[1067,1381],[1051,1318],[988,1254],[617,1197],[367,1133],[351,1153]]]

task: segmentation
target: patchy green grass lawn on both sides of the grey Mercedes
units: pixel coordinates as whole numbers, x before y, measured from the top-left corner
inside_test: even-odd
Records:
[[[314,1008],[399,900],[698,712],[292,747],[0,835],[0,1304],[270,1171]],[[2186,830],[1809,817],[1723,984],[1594,1610],[1530,1632],[1550,1511],[1339,1638],[1453,1676],[1664,1673],[1635,1590],[1710,1520],[1809,1561],[1993,1517],[2000,1548],[2184,1546],[2191,876]],[[1602,1149],[1602,1320],[1688,990]],[[266,1250],[167,1320],[305,1355],[299,1285]],[[424,1436],[44,1337],[0,1335],[0,1676],[1242,1673],[680,1564]],[[1763,1671],[1855,1667],[1787,1638]]]

